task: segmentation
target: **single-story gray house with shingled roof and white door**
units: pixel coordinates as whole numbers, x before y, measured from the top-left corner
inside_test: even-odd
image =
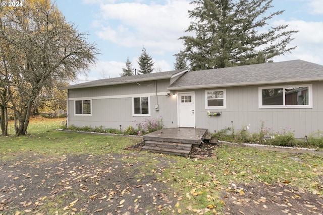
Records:
[[[68,125],[136,127],[163,117],[165,127],[244,126],[323,132],[323,66],[303,60],[165,71],[71,85]],[[213,116],[218,113],[216,116]]]

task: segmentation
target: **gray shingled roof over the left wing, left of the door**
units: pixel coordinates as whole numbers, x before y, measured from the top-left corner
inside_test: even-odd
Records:
[[[118,78],[111,79],[100,79],[91,82],[85,82],[76,85],[70,85],[64,89],[78,89],[78,88],[89,88],[89,87],[100,87],[100,86],[108,86],[108,85],[121,85],[127,83],[135,83],[135,82],[145,82],[145,81],[153,81],[153,80],[161,80],[161,79],[170,79],[174,75],[181,73],[187,69],[178,69],[172,71],[163,71],[161,73],[150,73],[150,74],[142,74],[136,76],[124,76]]]

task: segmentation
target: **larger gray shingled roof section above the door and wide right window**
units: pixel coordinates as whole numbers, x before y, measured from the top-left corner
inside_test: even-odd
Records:
[[[323,66],[303,60],[189,71],[168,90],[322,81]]]

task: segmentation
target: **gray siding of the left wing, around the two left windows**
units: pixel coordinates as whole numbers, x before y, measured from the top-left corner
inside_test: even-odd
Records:
[[[140,84],[140,85],[139,85]],[[167,97],[167,86],[170,80],[157,81],[159,111],[154,109],[156,104],[155,81],[140,82],[139,84],[124,84],[106,87],[69,89],[69,125],[75,126],[103,126],[106,128],[125,129],[129,125],[136,127],[136,124],[149,118],[162,117],[165,127],[177,127],[177,103],[172,96]],[[132,98],[135,95],[140,97],[150,94],[150,116],[132,115]],[[114,98],[104,98],[113,96]],[[115,98],[115,97],[122,98]],[[102,98],[100,98],[102,97]],[[92,116],[75,116],[74,100],[91,98]]]

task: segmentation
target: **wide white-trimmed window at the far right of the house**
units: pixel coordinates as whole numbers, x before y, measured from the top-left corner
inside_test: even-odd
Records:
[[[312,85],[259,87],[259,108],[312,108]]]

